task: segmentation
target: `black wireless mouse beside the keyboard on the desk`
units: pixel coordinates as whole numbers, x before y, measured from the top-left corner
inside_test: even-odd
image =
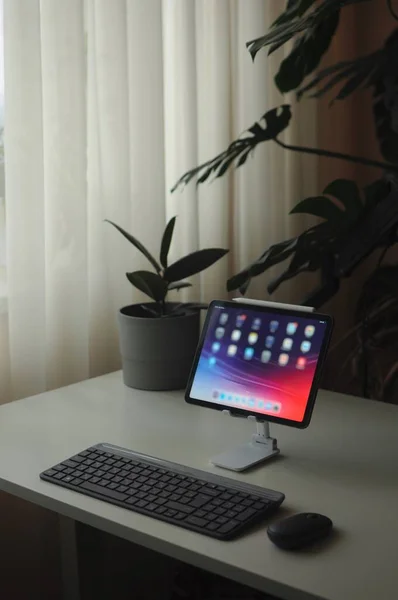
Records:
[[[268,537],[276,546],[293,550],[309,546],[326,537],[332,530],[329,517],[317,513],[298,513],[272,523],[268,527]]]

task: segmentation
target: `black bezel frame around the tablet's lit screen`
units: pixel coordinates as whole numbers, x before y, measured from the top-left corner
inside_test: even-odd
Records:
[[[252,313],[253,312],[256,312],[256,313],[264,312],[264,313],[271,313],[273,315],[283,314],[283,315],[289,315],[291,317],[304,317],[304,318],[308,318],[308,319],[314,318],[314,319],[319,319],[319,320],[326,322],[325,336],[323,338],[322,346],[321,346],[321,349],[319,352],[317,367],[316,367],[314,378],[312,381],[310,393],[308,395],[307,406],[306,406],[306,409],[304,412],[304,417],[303,417],[302,421],[283,419],[281,417],[277,417],[277,416],[273,416],[273,415],[266,415],[263,417],[262,415],[259,415],[258,412],[253,412],[251,410],[244,410],[242,408],[237,408],[237,407],[233,407],[233,406],[225,407],[222,404],[218,404],[215,402],[209,402],[206,400],[200,400],[199,398],[191,397],[190,394],[191,394],[193,380],[195,377],[195,373],[196,373],[199,358],[200,358],[200,355],[202,352],[204,340],[206,338],[207,330],[209,327],[210,317],[211,317],[212,311],[215,307],[217,307],[217,308],[233,307],[233,308],[242,309],[248,313],[249,312],[252,312]],[[322,374],[322,368],[325,364],[325,359],[327,356],[327,351],[328,351],[332,331],[333,331],[333,317],[331,317],[330,315],[324,315],[324,314],[316,313],[316,312],[304,312],[299,309],[298,310],[293,310],[293,309],[290,310],[290,309],[283,309],[283,308],[274,308],[274,307],[270,307],[270,306],[265,306],[265,305],[261,306],[261,305],[250,304],[250,303],[245,303],[245,302],[239,302],[239,304],[238,304],[237,302],[228,301],[228,300],[213,300],[209,305],[207,315],[206,315],[206,320],[203,325],[202,333],[200,336],[199,344],[196,349],[195,358],[192,363],[191,372],[189,374],[189,379],[188,379],[188,383],[187,383],[186,390],[185,390],[185,401],[188,402],[189,404],[195,404],[197,406],[203,406],[205,408],[212,408],[212,409],[218,410],[218,411],[228,410],[233,416],[239,416],[239,417],[253,416],[258,421],[269,421],[270,423],[277,423],[279,425],[288,425],[290,427],[296,427],[298,429],[305,429],[306,427],[308,427],[308,425],[310,424],[310,421],[311,421],[311,416],[312,416],[312,412],[314,409],[314,404],[315,404],[315,400],[316,400],[316,396],[317,396],[317,392],[318,392],[319,382],[320,382],[320,378],[321,378],[321,374]]]

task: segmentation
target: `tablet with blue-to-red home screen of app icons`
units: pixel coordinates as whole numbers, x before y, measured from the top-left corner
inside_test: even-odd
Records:
[[[328,315],[215,300],[185,400],[307,427],[332,328]]]

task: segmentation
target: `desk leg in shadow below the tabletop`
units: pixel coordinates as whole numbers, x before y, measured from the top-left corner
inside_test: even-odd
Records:
[[[63,600],[79,600],[76,521],[59,515]]]

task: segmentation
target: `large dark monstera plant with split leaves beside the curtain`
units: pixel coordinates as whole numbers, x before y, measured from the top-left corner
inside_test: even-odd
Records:
[[[275,74],[275,84],[283,94],[294,91],[297,102],[308,97],[320,98],[331,92],[332,103],[342,102],[354,92],[370,90],[382,160],[284,142],[281,133],[294,116],[294,106],[284,104],[267,110],[224,152],[182,175],[174,186],[177,189],[192,180],[200,184],[221,177],[228,169],[244,165],[256,147],[265,142],[277,144],[289,152],[343,159],[381,170],[381,175],[362,189],[355,181],[336,179],[318,196],[300,200],[291,213],[317,217],[314,225],[297,237],[265,248],[251,264],[229,279],[229,291],[245,293],[254,277],[287,261],[283,272],[268,282],[268,292],[274,292],[284,281],[299,273],[320,271],[321,285],[303,299],[303,304],[320,307],[338,291],[341,278],[349,276],[377,248],[381,249],[381,268],[386,250],[397,241],[398,27],[376,51],[320,68],[321,59],[338,30],[342,11],[348,5],[365,3],[373,3],[375,8],[386,5],[391,19],[398,20],[392,0],[287,0],[284,11],[270,30],[247,42],[247,48],[255,60],[260,51],[267,50],[272,54],[284,44],[293,42]],[[373,298],[372,302],[374,304],[376,300]],[[384,302],[382,296],[376,304],[378,314],[380,310],[391,310],[391,304]],[[362,342],[363,339],[362,336]],[[389,387],[393,387],[391,382]]]

